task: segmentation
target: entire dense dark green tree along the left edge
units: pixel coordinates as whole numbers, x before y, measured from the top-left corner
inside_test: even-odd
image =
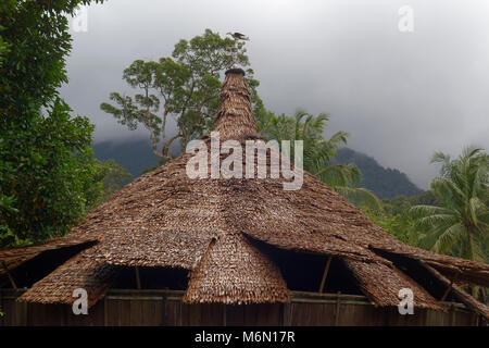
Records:
[[[59,236],[87,210],[93,126],[58,96],[67,15],[89,0],[0,2],[0,247]]]

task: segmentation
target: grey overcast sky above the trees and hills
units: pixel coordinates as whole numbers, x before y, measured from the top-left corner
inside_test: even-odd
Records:
[[[402,5],[412,33],[399,30]],[[488,18],[487,0],[108,0],[88,9],[86,33],[72,32],[61,94],[97,125],[96,142],[148,137],[99,109],[130,91],[123,70],[205,28],[241,32],[267,109],[327,112],[326,136],[349,132],[351,148],[427,188],[434,151],[489,148]]]

